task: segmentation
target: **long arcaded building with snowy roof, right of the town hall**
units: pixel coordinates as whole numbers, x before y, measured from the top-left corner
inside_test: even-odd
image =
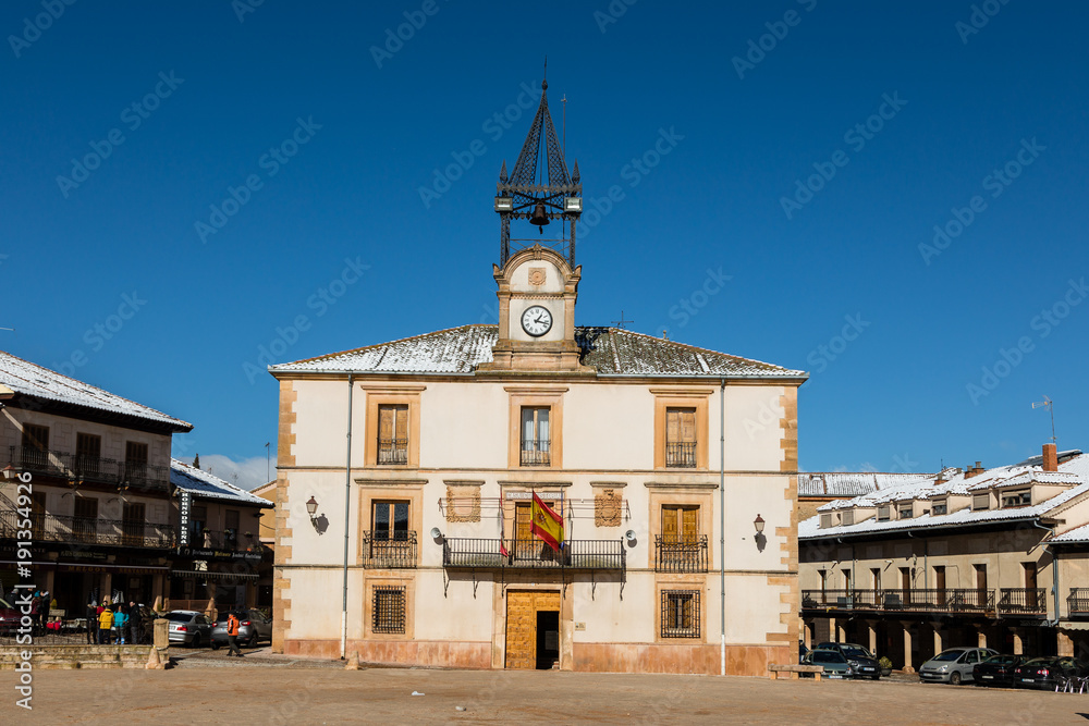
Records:
[[[977,462],[819,507],[799,525],[807,642],[858,642],[895,667],[944,648],[1084,652],[1089,457]]]

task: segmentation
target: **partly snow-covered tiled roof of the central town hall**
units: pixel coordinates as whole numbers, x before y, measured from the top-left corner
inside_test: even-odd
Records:
[[[491,362],[498,325],[462,325],[391,343],[269,366],[279,372],[473,373]],[[620,328],[576,328],[583,362],[599,376],[805,378],[805,371],[717,353]]]

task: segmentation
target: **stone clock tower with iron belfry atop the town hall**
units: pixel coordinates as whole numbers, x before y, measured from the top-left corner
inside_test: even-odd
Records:
[[[506,161],[494,200],[500,224],[499,340],[479,371],[582,372],[575,341],[575,229],[583,211],[578,162],[567,174],[548,110],[548,82],[514,171]],[[513,229],[512,229],[513,227]]]

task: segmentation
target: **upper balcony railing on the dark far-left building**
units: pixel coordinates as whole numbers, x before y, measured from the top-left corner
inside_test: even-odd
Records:
[[[9,463],[19,469],[47,477],[61,477],[73,482],[114,484],[132,490],[166,492],[170,484],[170,467],[140,462],[46,451],[30,446],[11,446]]]

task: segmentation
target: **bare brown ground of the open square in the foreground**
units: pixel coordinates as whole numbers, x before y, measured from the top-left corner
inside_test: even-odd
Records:
[[[1086,724],[1089,694],[895,681],[371,668],[193,651],[166,672],[0,672],[3,724]],[[419,693],[414,696],[414,691]]]

